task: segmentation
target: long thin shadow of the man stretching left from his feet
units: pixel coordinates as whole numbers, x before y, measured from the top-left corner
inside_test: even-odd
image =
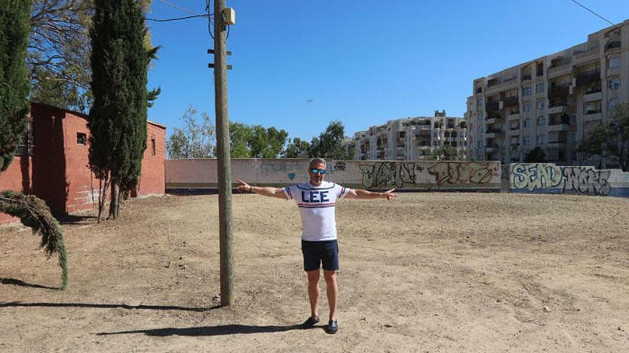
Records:
[[[322,326],[316,326],[323,328]],[[316,328],[311,327],[311,328]],[[146,334],[147,336],[166,337],[166,336],[220,336],[224,334],[253,334],[253,333],[269,333],[269,332],[285,332],[293,329],[303,329],[302,325],[294,324],[289,326],[250,326],[244,324],[225,324],[219,326],[205,327],[188,327],[177,329],[167,327],[164,329],[138,329],[133,331],[119,332],[100,332],[99,336],[109,336],[112,334]]]

